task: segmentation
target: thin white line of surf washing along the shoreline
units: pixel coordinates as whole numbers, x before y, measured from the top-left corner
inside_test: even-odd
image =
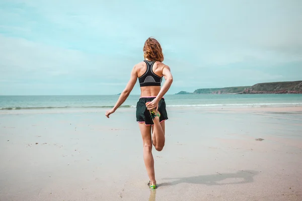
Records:
[[[247,104],[192,104],[192,105],[167,105],[167,107],[265,107],[265,106],[302,106],[302,103],[247,103]],[[101,109],[113,108],[113,106],[63,106],[63,107],[8,107],[0,110],[51,110],[51,109]],[[120,108],[136,108],[136,106],[125,105]]]

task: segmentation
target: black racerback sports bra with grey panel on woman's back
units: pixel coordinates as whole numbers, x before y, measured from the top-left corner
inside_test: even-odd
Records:
[[[153,64],[155,61],[147,61],[144,60],[144,62],[147,64],[147,70],[146,72],[138,77],[139,85],[140,86],[160,86],[163,80],[163,76],[160,77],[156,75],[153,70]]]

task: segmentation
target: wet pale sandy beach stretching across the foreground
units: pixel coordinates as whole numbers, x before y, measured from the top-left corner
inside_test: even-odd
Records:
[[[156,190],[135,108],[0,111],[0,200],[302,200],[302,107],[167,110]]]

